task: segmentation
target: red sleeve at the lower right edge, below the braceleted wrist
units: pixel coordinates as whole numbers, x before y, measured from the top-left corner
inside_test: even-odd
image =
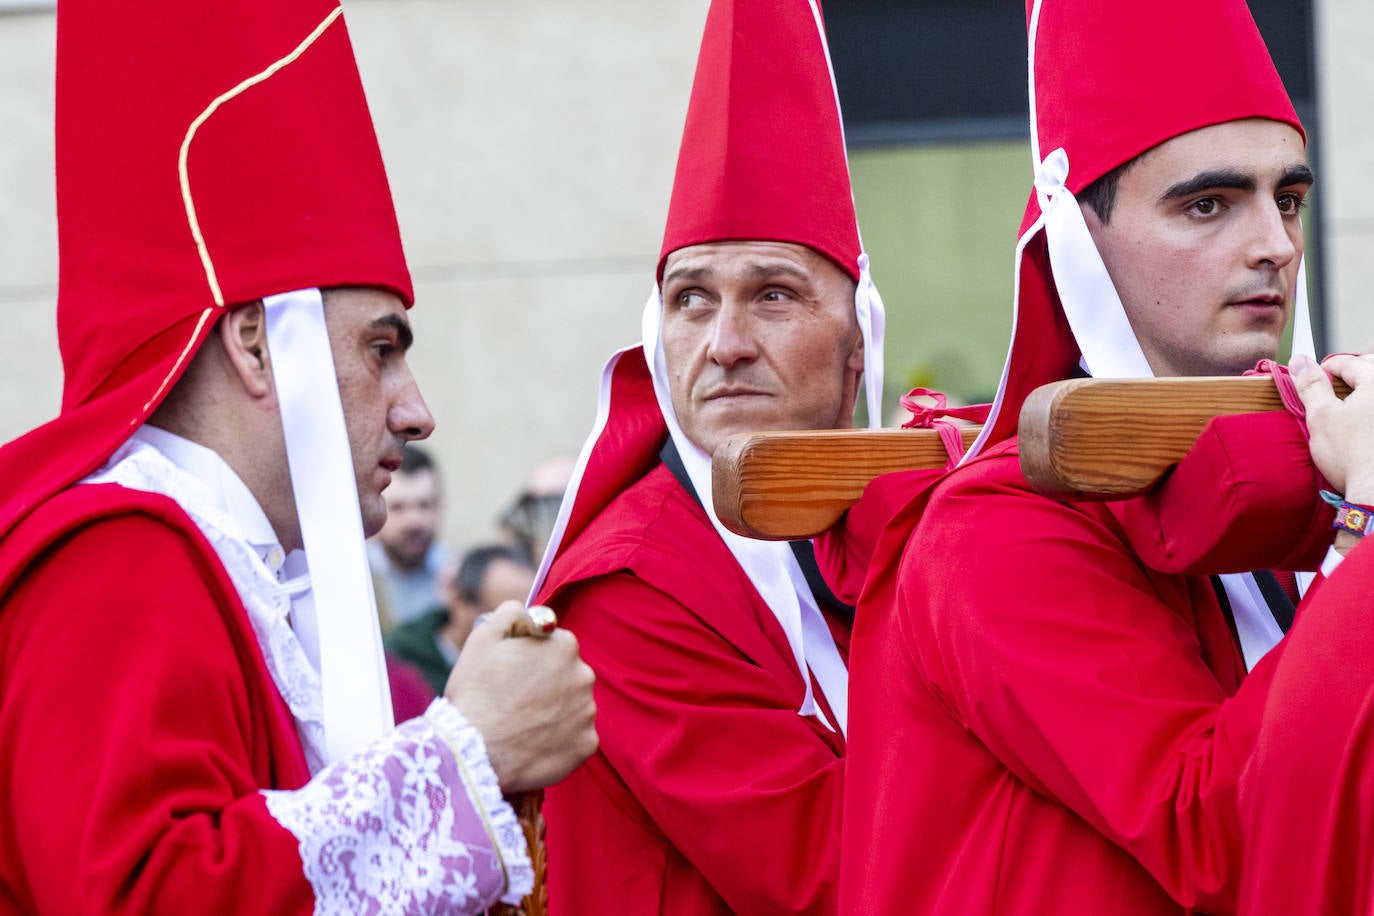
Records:
[[[1366,538],[1369,540],[1369,538]],[[1250,768],[1241,912],[1374,913],[1374,545],[1308,592]]]

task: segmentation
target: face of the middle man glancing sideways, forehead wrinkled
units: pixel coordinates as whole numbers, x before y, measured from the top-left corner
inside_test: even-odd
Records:
[[[713,242],[664,264],[664,360],[683,433],[848,427],[863,375],[855,283],[783,242]]]

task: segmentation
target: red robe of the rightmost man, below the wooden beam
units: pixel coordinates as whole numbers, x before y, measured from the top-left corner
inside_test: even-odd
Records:
[[[1296,424],[1237,426],[1286,437],[1278,467],[1265,448],[1223,450],[1223,475],[1165,509],[1039,496],[1011,441],[951,474],[879,555],[853,641],[841,912],[1235,909],[1237,787],[1282,647],[1245,677],[1209,580],[1151,571],[1136,545],[1205,563],[1220,548],[1193,531],[1227,519],[1190,526],[1178,507],[1243,503],[1285,475],[1308,499],[1267,518],[1309,526]],[[1283,549],[1227,558],[1268,553]]]

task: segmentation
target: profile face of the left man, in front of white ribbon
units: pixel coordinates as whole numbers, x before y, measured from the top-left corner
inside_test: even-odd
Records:
[[[363,531],[372,536],[386,520],[382,490],[401,466],[401,450],[433,433],[434,417],[405,364],[411,325],[398,297],[371,288],[326,290],[324,321],[353,450]]]

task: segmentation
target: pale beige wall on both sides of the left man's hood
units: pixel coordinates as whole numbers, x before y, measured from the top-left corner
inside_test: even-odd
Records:
[[[705,0],[350,0],[416,287],[447,536],[576,452],[639,339]],[[56,413],[51,14],[0,15],[0,438]],[[18,323],[18,327],[15,327]]]

